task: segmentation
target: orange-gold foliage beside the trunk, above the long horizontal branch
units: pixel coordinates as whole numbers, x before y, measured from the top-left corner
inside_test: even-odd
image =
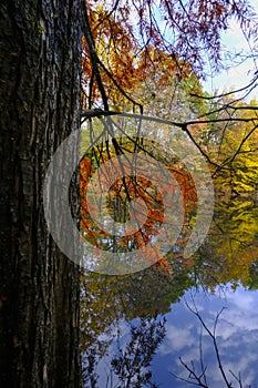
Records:
[[[141,17],[143,10],[141,9],[138,13]],[[102,6],[89,7],[101,80],[109,101],[116,108],[128,104],[126,95],[134,99],[137,95],[138,85],[146,79],[157,79],[158,75],[157,86],[167,86],[172,78],[182,80],[192,71],[189,63],[180,62],[174,52],[168,53],[165,50],[154,29],[149,32],[149,43],[142,49],[127,20],[128,14],[126,7],[120,8],[120,14],[116,18],[109,14]],[[85,38],[83,38],[82,68],[84,93],[87,94],[84,104],[91,105],[102,95]]]

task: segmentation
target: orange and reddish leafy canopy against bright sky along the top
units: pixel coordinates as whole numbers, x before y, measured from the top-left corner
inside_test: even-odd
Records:
[[[220,33],[236,18],[245,37],[257,32],[247,1],[101,1],[87,2],[91,40],[83,40],[85,105],[102,103],[100,80],[110,104],[125,110],[134,100],[135,83],[155,72],[159,81],[184,79],[186,72],[205,75],[205,63],[220,67]],[[93,53],[94,51],[94,53]],[[173,75],[174,74],[174,75]],[[131,106],[132,108],[132,106]]]

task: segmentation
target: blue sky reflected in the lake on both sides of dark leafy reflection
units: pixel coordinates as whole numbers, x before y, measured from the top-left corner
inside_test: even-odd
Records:
[[[186,293],[185,300],[192,304],[190,293]],[[241,376],[244,387],[251,385],[251,388],[258,386],[258,292],[246,292],[239,287],[236,292],[228,289],[220,296],[210,296],[204,293],[194,295],[195,305],[198,308],[205,324],[213,330],[217,313],[223,310],[217,325],[217,344],[221,357],[221,364],[225,368],[229,381],[234,386],[239,386],[229,372]],[[152,363],[152,371],[155,382],[164,388],[185,388],[188,386],[184,381],[177,380],[171,372],[188,377],[188,372],[179,363],[179,357],[190,365],[195,363],[196,370],[199,370],[199,338],[200,324],[198,318],[189,312],[184,304],[172,305],[171,313],[166,315],[166,336],[159,346],[157,354]],[[130,339],[128,326],[121,325],[120,346],[123,347]],[[208,387],[225,387],[219,374],[219,368],[215,358],[215,351],[211,338],[203,329],[202,331],[204,365],[207,365]],[[97,367],[100,375],[99,386],[106,386],[106,376],[110,374],[110,361],[117,354],[117,343],[113,341],[109,348],[109,355],[102,359]],[[115,377],[115,376],[114,376]],[[115,381],[113,386],[115,387]]]

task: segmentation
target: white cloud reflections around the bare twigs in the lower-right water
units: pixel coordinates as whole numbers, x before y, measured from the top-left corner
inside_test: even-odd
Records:
[[[194,297],[198,312],[200,313],[205,324],[213,331],[217,313],[223,306],[227,308],[221,313],[216,337],[219,354],[225,372],[229,381],[237,382],[230,370],[238,376],[241,375],[244,386],[258,384],[257,372],[257,344],[258,344],[258,310],[256,308],[258,302],[257,292],[246,292],[238,288],[235,293],[226,293],[226,298],[211,296],[209,300],[204,296]],[[189,299],[189,305],[190,299]],[[177,376],[187,378],[188,374],[180,365],[178,357],[190,366],[195,363],[195,367],[199,367],[199,333],[200,326],[197,317],[188,316],[192,313],[187,309],[183,312],[183,306],[178,308],[178,316],[169,316],[167,319],[167,335],[164,344],[161,346],[163,357],[169,359],[167,369]],[[179,327],[175,326],[178,325]],[[220,387],[225,384],[221,380],[221,374],[216,360],[215,349],[211,338],[203,329],[203,355],[204,365],[207,365],[207,379],[211,387]],[[169,356],[168,356],[169,354]],[[167,358],[169,357],[169,358]],[[183,387],[179,382],[174,382],[173,387]]]

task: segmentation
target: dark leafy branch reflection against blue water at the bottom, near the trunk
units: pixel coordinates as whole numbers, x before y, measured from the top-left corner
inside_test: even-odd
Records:
[[[116,354],[112,357],[111,367],[106,371],[106,387],[157,387],[152,381],[149,365],[165,336],[165,320],[140,318],[136,323],[130,324],[130,336],[124,346],[120,340],[116,343]],[[95,366],[99,356],[96,345],[84,354],[84,385],[89,388],[97,387],[99,376]]]

